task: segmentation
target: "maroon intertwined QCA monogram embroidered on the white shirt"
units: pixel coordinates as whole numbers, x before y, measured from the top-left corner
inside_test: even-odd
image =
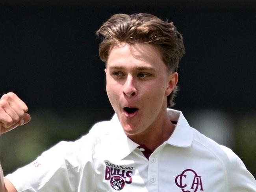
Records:
[[[186,169],[180,175],[177,175],[175,183],[181,188],[182,192],[197,192],[198,189],[200,191],[204,190],[201,176],[198,176],[192,169]]]

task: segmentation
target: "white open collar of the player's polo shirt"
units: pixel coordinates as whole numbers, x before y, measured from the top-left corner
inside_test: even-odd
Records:
[[[167,109],[167,114],[172,121],[177,121],[176,127],[173,131],[173,134],[171,137],[165,142],[167,144],[170,144],[172,146],[176,147],[189,147],[192,144],[193,140],[193,131],[191,127],[189,126],[187,120],[183,116],[181,111],[176,111],[174,109]],[[112,154],[118,159],[123,159],[132,151],[134,151],[136,148],[139,147],[139,144],[132,141],[130,138],[128,138],[119,122],[119,119],[117,117],[117,114],[114,114],[113,118],[110,121],[112,130],[114,131],[115,139],[118,140],[118,146],[115,146],[115,148],[119,151],[119,153]],[[116,135],[119,137],[116,138]]]

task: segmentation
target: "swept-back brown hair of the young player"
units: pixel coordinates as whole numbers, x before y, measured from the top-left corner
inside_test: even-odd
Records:
[[[156,46],[171,72],[177,72],[178,63],[185,53],[182,35],[176,30],[173,22],[165,22],[147,13],[115,14],[96,31],[96,35],[103,37],[99,55],[104,62],[108,59],[111,47],[120,42],[149,43]],[[175,87],[167,96],[168,107],[174,106],[177,90],[178,87]]]

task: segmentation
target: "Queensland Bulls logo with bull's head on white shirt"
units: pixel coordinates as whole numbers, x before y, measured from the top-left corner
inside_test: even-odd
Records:
[[[113,189],[120,191],[125,184],[132,183],[133,167],[116,165],[110,162],[105,162],[105,180],[110,182]]]

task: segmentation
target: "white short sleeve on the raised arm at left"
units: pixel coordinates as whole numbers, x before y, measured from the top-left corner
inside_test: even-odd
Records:
[[[75,192],[81,170],[90,161],[89,136],[76,142],[59,142],[32,163],[6,176],[18,192]],[[84,142],[85,141],[85,142]],[[87,146],[87,157],[81,155]]]

